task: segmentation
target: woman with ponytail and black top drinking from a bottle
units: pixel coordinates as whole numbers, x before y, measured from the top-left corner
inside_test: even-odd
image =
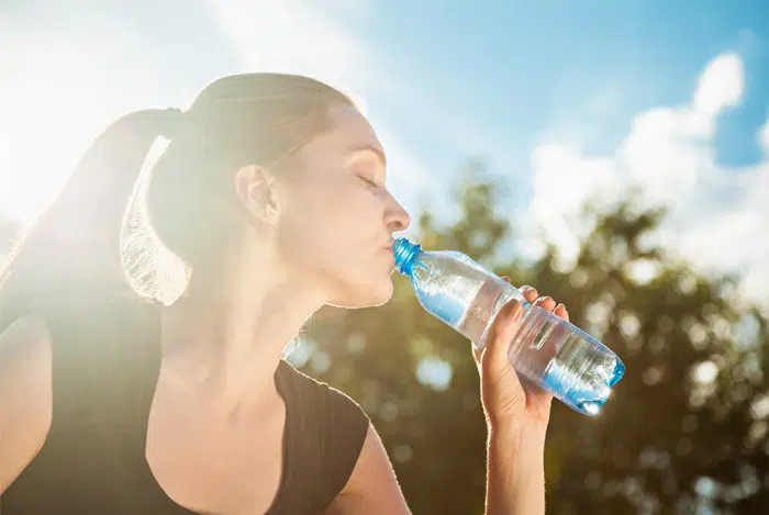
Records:
[[[159,134],[145,214],[191,270],[181,295],[123,216]],[[384,172],[354,103],[298,76],[226,77],[109,127],[2,277],[2,515],[408,513],[360,407],[281,359],[324,304],[389,300],[409,215]],[[488,514],[544,513],[550,396],[508,363],[520,314],[473,355]]]

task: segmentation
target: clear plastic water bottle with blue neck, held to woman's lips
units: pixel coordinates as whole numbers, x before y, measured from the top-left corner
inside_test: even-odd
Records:
[[[625,366],[606,346],[523,294],[465,254],[423,250],[400,238],[395,267],[409,276],[420,304],[477,347],[497,313],[517,299],[523,316],[508,350],[515,370],[569,407],[595,415],[622,379]]]

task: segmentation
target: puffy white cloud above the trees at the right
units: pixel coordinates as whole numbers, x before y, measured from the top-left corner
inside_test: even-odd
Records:
[[[638,114],[610,155],[586,156],[562,143],[533,152],[528,220],[559,245],[564,268],[589,229],[570,222],[582,201],[614,202],[627,186],[639,186],[646,201],[671,208],[659,235],[671,253],[701,272],[740,272],[749,299],[769,298],[769,152],[762,163],[733,169],[716,163],[712,141],[718,115],[742,99],[743,74],[737,55],[717,56],[690,104]],[[758,139],[769,149],[769,120]]]

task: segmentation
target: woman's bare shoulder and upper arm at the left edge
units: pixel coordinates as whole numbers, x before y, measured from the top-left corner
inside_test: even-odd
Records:
[[[40,451],[51,416],[51,333],[26,315],[0,334],[0,493]]]

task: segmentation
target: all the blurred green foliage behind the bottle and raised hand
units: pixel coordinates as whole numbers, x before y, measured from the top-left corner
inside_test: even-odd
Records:
[[[499,256],[511,227],[482,164],[465,170],[456,200],[452,225],[419,215],[425,248],[465,251],[562,301],[627,366],[600,416],[554,404],[548,513],[769,505],[768,321],[733,307],[733,279],[701,277],[655,246],[665,210],[639,209],[629,195],[611,212],[586,211],[594,228],[562,272],[553,247],[526,265]],[[382,307],[323,311],[308,328],[316,347],[304,368],[367,410],[414,513],[481,514],[486,427],[470,344],[426,314],[404,278],[394,281]],[[450,382],[421,382],[424,363],[450,369]]]

